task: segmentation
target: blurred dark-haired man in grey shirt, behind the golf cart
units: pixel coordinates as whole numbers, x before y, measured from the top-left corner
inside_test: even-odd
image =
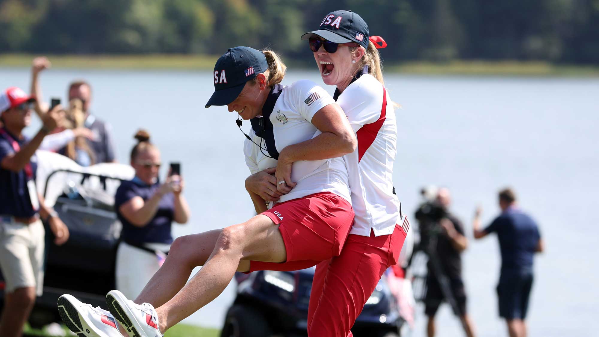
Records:
[[[84,127],[94,133],[94,140],[86,140],[86,142],[93,152],[95,163],[116,163],[116,152],[110,125],[90,113],[92,87],[89,83],[83,80],[72,82],[69,85],[69,101],[74,98],[78,98],[83,103]],[[66,149],[61,149],[60,153],[65,154]]]

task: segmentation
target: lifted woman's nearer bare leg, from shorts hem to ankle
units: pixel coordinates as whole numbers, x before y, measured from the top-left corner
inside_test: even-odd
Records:
[[[156,308],[159,330],[165,332],[215,299],[231,282],[241,259],[283,262],[287,259],[279,225],[265,215],[226,227],[204,264],[173,299]]]

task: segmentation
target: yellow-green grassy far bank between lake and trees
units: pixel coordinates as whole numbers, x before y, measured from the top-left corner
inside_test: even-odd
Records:
[[[35,55],[0,54],[0,67],[29,67]],[[212,70],[210,55],[49,55],[55,68]],[[599,76],[599,66],[553,65],[548,62],[451,61],[444,63],[383,60],[386,72],[425,75]]]

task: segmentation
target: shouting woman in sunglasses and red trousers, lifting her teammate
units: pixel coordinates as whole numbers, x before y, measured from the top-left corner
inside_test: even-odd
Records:
[[[409,231],[392,182],[397,122],[377,50],[387,44],[348,10],[326,14],[301,39],[308,40],[323,82],[336,86],[333,97],[358,140],[358,149],[343,157],[354,223],[341,255],[316,266],[307,322],[310,336],[346,337],[383,272],[400,260]],[[325,291],[330,288],[337,291]]]

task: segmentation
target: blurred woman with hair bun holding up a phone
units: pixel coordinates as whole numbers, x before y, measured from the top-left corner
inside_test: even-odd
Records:
[[[133,180],[123,182],[114,197],[114,208],[123,224],[116,257],[116,287],[135,298],[158,271],[173,243],[171,222],[184,224],[189,207],[183,197],[183,178],[169,173],[158,180],[160,152],[147,131],[135,134],[131,151]]]

